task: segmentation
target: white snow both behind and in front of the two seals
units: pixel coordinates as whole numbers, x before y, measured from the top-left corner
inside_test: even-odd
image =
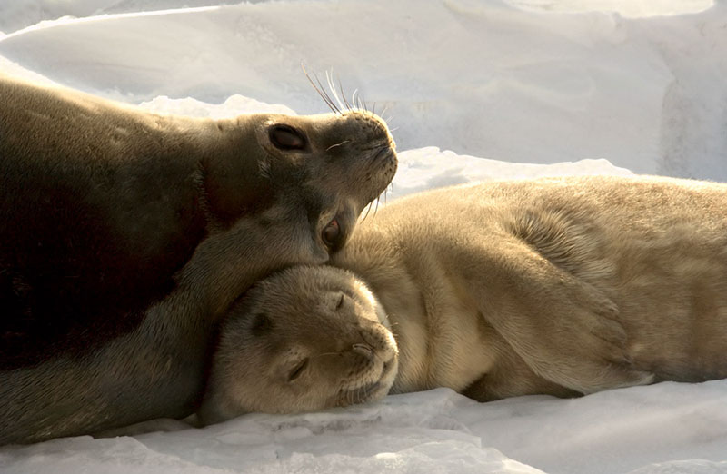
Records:
[[[333,68],[394,129],[390,200],[543,174],[727,181],[725,0],[235,4],[3,0],[0,71],[226,116],[324,112],[301,64]],[[5,447],[0,472],[727,472],[727,381],[487,404],[438,389],[152,428]]]

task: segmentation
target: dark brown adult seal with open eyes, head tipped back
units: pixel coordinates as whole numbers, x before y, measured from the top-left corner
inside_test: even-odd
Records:
[[[214,323],[390,183],[374,114],[151,114],[0,77],[0,444],[193,412]]]

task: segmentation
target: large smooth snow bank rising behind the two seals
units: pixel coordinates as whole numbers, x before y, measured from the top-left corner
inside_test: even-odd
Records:
[[[102,15],[6,35],[0,54],[135,104],[241,94],[299,114],[325,108],[301,64],[323,79],[334,68],[346,97],[358,88],[385,108],[402,150],[438,146],[513,163],[604,158],[636,173],[727,180],[727,3],[700,11],[710,3],[569,0],[565,12],[511,3],[519,7],[305,0]],[[79,5],[124,11],[111,1]],[[126,6],[134,5],[168,2]],[[590,5],[699,13],[625,18]]]

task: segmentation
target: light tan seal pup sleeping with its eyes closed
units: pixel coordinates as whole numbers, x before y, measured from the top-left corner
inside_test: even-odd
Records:
[[[442,189],[385,207],[331,264],[276,274],[234,305],[205,422],[387,391],[484,401],[727,377],[727,184]]]

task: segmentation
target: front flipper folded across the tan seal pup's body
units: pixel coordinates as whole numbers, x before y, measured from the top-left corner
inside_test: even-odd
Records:
[[[618,308],[592,285],[512,236],[456,252],[483,318],[537,375],[581,393],[653,380],[630,368]]]

